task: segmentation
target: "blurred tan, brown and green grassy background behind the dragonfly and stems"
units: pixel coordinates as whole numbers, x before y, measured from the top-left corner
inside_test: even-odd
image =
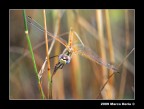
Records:
[[[26,15],[44,27],[42,10],[26,10]],[[22,10],[9,11],[10,99],[41,99],[33,62],[25,36]],[[134,99],[135,47],[134,10],[46,10],[47,30],[68,40],[72,27],[84,45],[104,61],[117,66],[119,74],[81,55],[75,54],[69,64],[53,77],[53,99]],[[29,35],[38,71],[46,57],[44,33],[28,23]],[[52,37],[48,36],[49,47]],[[74,36],[74,45],[80,42]],[[64,46],[55,41],[50,57],[63,52]],[[123,63],[122,63],[123,62]],[[58,57],[50,59],[51,72]],[[122,64],[121,64],[122,63]],[[42,88],[48,95],[47,72],[42,75]],[[103,90],[102,87],[104,86]]]

